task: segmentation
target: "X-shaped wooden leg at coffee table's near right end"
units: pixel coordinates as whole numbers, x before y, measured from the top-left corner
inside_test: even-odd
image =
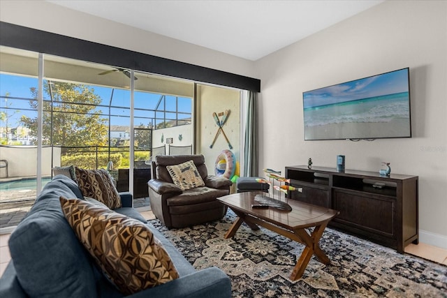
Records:
[[[328,256],[323,253],[319,246],[320,238],[323,235],[327,224],[328,223],[323,223],[323,225],[316,226],[311,235],[309,235],[305,229],[298,229],[294,231],[295,234],[298,234],[298,237],[305,242],[304,244],[306,247],[304,251],[302,251],[298,262],[293,268],[291,280],[296,281],[298,278],[301,278],[302,274],[305,272],[307,264],[309,264],[310,258],[312,258],[312,255],[315,255],[316,258],[323,264],[329,264],[330,260]]]

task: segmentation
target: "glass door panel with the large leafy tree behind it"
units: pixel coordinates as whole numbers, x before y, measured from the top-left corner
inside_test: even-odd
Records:
[[[129,167],[130,79],[121,68],[45,56],[45,145],[49,167],[110,170]],[[129,188],[129,177],[126,177]]]

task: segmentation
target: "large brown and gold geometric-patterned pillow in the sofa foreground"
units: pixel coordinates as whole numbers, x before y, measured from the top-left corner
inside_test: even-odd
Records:
[[[97,203],[59,200],[76,237],[124,295],[179,277],[168,253],[144,223]]]

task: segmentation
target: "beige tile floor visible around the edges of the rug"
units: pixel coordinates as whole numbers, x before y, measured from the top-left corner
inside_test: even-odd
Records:
[[[152,211],[150,211],[149,206],[136,207],[136,209],[140,211],[142,216],[147,220],[155,218]],[[8,265],[11,258],[8,249],[9,236],[10,234],[0,234],[0,276],[3,274],[3,271],[5,271],[6,265]],[[405,253],[447,265],[447,249],[439,248],[437,246],[430,246],[423,243],[418,245],[410,244],[409,246],[406,246]]]

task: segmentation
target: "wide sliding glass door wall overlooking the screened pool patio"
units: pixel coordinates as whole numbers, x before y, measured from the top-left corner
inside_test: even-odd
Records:
[[[228,149],[237,168],[239,90],[3,46],[0,54],[0,200],[35,200],[54,167],[105,168],[134,198],[147,197],[154,155],[204,154],[214,174]],[[11,214],[1,211],[1,222]]]

